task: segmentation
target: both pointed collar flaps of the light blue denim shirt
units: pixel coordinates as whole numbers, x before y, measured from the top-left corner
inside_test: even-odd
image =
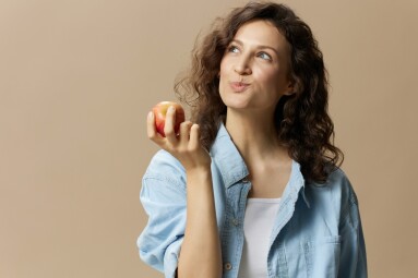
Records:
[[[218,167],[225,186],[228,189],[232,184],[241,181],[249,174],[247,165],[235,146],[225,125],[220,123],[217,136],[211,148],[211,157]],[[292,160],[289,182],[283,193],[282,198],[297,198],[299,192],[309,207],[308,198],[304,195],[306,182],[300,171],[300,165]]]

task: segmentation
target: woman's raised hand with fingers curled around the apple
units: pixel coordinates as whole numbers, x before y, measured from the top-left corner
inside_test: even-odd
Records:
[[[153,112],[147,117],[147,135],[159,147],[170,153],[184,167],[186,171],[211,167],[211,157],[200,143],[200,130],[198,124],[184,121],[180,124],[179,134],[175,132],[176,108],[170,107],[166,114],[164,126],[165,137],[156,131],[155,116]]]

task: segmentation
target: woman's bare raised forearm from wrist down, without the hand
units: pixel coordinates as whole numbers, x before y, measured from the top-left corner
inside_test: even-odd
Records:
[[[222,276],[220,242],[216,225],[211,171],[187,172],[187,222],[178,277]]]

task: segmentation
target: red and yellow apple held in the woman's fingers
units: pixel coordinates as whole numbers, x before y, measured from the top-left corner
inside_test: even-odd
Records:
[[[174,102],[174,101],[162,101],[154,106],[153,113],[155,118],[155,126],[157,129],[157,132],[162,134],[163,136],[166,136],[164,133],[164,125],[166,124],[166,113],[170,106],[174,106],[176,108],[176,123],[175,123],[175,132],[176,134],[179,133],[180,123],[184,121],[184,110],[181,107],[181,105]]]

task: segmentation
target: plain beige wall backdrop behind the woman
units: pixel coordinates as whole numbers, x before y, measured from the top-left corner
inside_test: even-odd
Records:
[[[415,277],[418,1],[295,0],[331,73],[370,277]],[[135,246],[145,116],[243,1],[0,1],[0,277],[162,277]]]

